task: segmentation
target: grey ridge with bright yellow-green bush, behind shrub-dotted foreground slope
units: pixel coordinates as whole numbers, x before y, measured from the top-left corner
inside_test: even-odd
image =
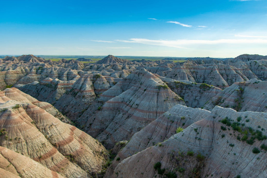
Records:
[[[114,168],[125,158],[167,140],[176,134],[177,128],[185,129],[194,122],[206,118],[209,114],[210,111],[204,109],[194,109],[183,105],[173,106],[162,116],[132,136],[131,140],[115,158],[116,160],[119,157],[120,161],[113,161],[106,177],[111,176]]]

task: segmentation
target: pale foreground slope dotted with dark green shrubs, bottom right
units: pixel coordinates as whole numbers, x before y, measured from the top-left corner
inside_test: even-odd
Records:
[[[216,106],[208,117],[121,161],[111,177],[265,177],[266,116]]]

